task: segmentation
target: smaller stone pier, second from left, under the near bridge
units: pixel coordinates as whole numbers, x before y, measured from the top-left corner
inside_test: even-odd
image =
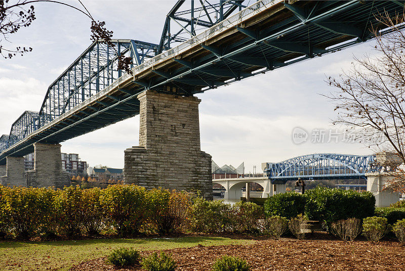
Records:
[[[34,144],[34,170],[27,171],[28,187],[70,186],[70,175],[62,170],[60,144]]]

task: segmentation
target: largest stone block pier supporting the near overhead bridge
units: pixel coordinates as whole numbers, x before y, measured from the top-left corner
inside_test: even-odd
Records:
[[[124,151],[124,183],[201,192],[212,199],[211,155],[200,149],[196,97],[146,91],[140,101],[139,147]]]

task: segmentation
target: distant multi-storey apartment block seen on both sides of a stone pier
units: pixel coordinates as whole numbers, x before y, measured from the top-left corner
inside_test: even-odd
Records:
[[[87,175],[87,162],[80,161],[76,153],[62,153],[62,170],[69,172],[71,175]],[[24,156],[25,170],[34,169],[34,154],[30,153]]]

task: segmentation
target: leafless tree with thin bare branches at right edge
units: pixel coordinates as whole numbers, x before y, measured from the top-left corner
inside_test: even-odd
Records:
[[[334,124],[349,130],[359,129],[369,136],[382,133],[380,142],[363,143],[380,151],[394,152],[405,163],[405,32],[402,29],[405,15],[392,18],[384,13],[376,18],[392,32],[382,36],[372,27],[376,36],[376,54],[355,58],[351,68],[339,78],[329,77],[327,82],[338,91],[327,97],[336,105]],[[390,187],[403,191],[403,170],[395,165],[391,169],[395,169],[395,180]]]

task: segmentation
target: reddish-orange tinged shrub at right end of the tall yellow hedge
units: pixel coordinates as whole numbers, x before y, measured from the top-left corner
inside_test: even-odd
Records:
[[[191,195],[187,192],[154,189],[148,194],[149,215],[158,234],[180,233],[187,225]]]

